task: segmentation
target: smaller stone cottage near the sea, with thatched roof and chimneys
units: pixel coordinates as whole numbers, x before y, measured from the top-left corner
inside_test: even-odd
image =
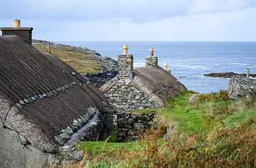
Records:
[[[117,77],[100,88],[117,109],[162,108],[171,96],[186,91],[186,86],[170,71],[158,66],[153,48],[146,57],[146,67],[134,69],[133,63],[133,55],[127,54],[127,45],[124,45],[123,54],[118,56]]]

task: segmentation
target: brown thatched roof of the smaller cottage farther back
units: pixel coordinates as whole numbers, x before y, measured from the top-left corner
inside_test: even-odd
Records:
[[[169,72],[153,65],[134,69],[134,83],[161,107],[171,96],[186,91],[186,86]]]

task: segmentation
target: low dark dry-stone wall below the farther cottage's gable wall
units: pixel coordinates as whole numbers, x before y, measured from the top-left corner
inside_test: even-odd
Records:
[[[156,113],[123,113],[117,116],[117,141],[137,140],[139,133],[156,124]]]

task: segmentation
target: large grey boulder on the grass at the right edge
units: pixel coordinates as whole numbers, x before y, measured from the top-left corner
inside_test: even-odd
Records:
[[[230,78],[228,97],[230,99],[251,98],[256,96],[256,79],[235,75]]]

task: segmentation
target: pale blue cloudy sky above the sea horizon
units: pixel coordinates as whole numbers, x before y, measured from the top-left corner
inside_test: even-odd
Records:
[[[0,0],[0,27],[53,41],[255,41],[256,0]]]

